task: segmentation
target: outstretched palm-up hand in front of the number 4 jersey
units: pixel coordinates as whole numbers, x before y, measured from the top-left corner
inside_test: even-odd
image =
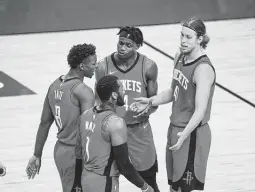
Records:
[[[137,118],[139,116],[146,115],[150,109],[149,98],[138,97],[138,98],[134,98],[134,100],[135,100],[135,102],[133,102],[130,105],[131,111],[138,113],[134,117]]]

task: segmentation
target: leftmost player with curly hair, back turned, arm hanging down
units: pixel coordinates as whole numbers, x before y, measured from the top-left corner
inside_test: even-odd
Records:
[[[41,156],[49,129],[55,121],[58,128],[54,160],[61,178],[63,192],[81,191],[81,161],[75,158],[78,117],[94,106],[93,90],[83,83],[97,67],[96,47],[79,44],[71,48],[67,60],[69,72],[57,78],[45,98],[41,122],[37,131],[34,155],[27,166],[28,178],[39,174]]]

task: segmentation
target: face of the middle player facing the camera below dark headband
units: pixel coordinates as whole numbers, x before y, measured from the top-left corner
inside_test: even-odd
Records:
[[[127,39],[125,37],[120,37],[117,45],[117,53],[119,58],[127,59],[131,57],[135,50],[137,49],[137,45],[131,39]]]

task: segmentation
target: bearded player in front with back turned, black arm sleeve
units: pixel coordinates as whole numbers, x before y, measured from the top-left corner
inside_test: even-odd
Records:
[[[82,188],[86,192],[118,192],[119,173],[142,191],[154,190],[140,177],[128,157],[127,127],[116,115],[124,90],[116,76],[102,77],[96,86],[101,104],[78,120],[76,157],[83,160]]]

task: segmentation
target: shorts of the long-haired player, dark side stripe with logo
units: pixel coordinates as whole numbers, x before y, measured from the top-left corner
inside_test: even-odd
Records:
[[[169,150],[177,143],[177,133],[184,128],[170,124],[166,146],[168,184],[182,192],[204,190],[207,160],[211,146],[211,131],[208,124],[197,127],[177,151]]]

